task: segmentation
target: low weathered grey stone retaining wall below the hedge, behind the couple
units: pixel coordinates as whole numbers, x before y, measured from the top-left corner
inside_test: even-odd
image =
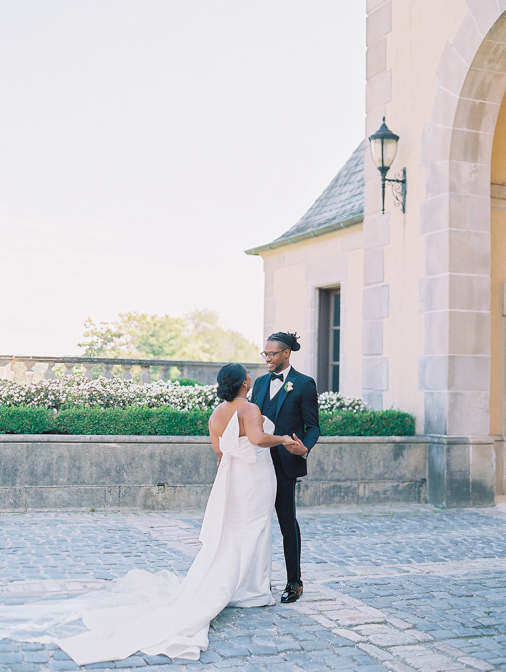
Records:
[[[425,502],[426,437],[321,437],[298,505]],[[203,509],[208,437],[0,436],[0,510]]]

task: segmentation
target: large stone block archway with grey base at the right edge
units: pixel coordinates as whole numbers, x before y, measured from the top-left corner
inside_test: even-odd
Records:
[[[420,383],[425,433],[436,435],[429,500],[446,506],[484,505],[494,496],[491,156],[506,91],[506,2],[468,0],[468,7],[441,57],[423,138]]]

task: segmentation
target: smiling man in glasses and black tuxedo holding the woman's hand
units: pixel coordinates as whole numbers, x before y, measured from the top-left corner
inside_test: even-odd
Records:
[[[306,458],[320,435],[317,386],[312,378],[290,365],[290,354],[300,349],[298,336],[278,332],[265,343],[262,357],[269,373],[255,380],[251,401],[262,415],[276,426],[276,433],[296,439],[290,446],[271,448],[276,472],[276,515],[283,535],[288,583],[281,596],[283,603],[302,595],[300,579],[300,528],[295,517],[295,484],[306,476]]]

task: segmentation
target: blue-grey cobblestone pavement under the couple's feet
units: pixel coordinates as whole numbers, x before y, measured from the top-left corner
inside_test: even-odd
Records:
[[[141,653],[81,669],[146,672],[506,670],[506,504],[300,509],[304,595],[228,608],[198,662]],[[132,567],[184,575],[202,512],[0,514],[0,599],[76,594]],[[0,641],[0,672],[79,669],[53,644]]]

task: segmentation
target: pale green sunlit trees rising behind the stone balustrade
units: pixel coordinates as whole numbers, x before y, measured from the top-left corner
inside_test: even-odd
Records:
[[[238,331],[218,325],[211,310],[185,317],[120,312],[112,322],[85,322],[86,357],[192,360],[196,362],[256,362],[259,348]]]

